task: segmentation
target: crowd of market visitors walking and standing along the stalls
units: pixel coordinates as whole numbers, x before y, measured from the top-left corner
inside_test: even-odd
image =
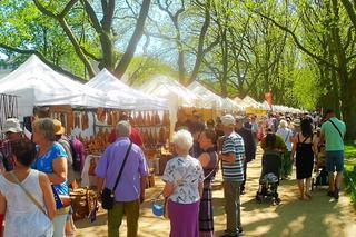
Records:
[[[264,152],[280,154],[281,179],[289,179],[293,165],[296,166],[300,200],[312,198],[312,172],[315,164],[323,162],[328,171],[327,195],[339,197],[346,127],[333,110],[324,118],[225,115],[207,121],[194,111],[191,119],[178,115],[175,129],[175,157],[167,162],[161,177],[171,237],[215,236],[211,184],[219,170],[226,211],[221,236],[244,233],[240,195],[247,190],[248,162],[255,159],[258,144]],[[118,122],[111,132],[112,144],[105,149],[95,170],[99,200],[107,201],[103,191],[111,192],[109,237],[118,236],[123,216],[127,236],[137,236],[140,204],[146,198],[149,169],[145,148],[132,140],[132,130],[136,132],[129,119]],[[8,140],[0,152],[0,221],[4,220],[4,236],[73,236],[72,209],[58,201],[69,196],[68,180],[76,177],[75,158],[63,131],[60,121],[41,118],[33,121],[32,136],[26,138],[17,119],[6,121],[2,132]]]

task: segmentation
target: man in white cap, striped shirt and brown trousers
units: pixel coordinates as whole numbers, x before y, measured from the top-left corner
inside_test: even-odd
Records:
[[[241,136],[234,131],[235,118],[231,115],[221,117],[225,140],[219,159],[222,162],[224,196],[226,226],[222,237],[235,237],[243,234],[240,218],[240,185],[244,181],[245,148]]]

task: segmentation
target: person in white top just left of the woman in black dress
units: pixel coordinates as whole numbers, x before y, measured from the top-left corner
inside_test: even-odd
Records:
[[[276,134],[283,138],[287,146],[287,150],[284,152],[281,158],[280,170],[281,178],[286,179],[291,175],[293,170],[293,160],[290,159],[293,131],[288,128],[288,122],[286,120],[280,120],[279,128]]]

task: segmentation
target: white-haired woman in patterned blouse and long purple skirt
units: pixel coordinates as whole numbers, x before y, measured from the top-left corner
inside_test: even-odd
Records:
[[[177,157],[169,160],[162,176],[164,196],[168,199],[170,237],[199,236],[199,204],[204,171],[198,159],[189,156],[191,134],[179,130],[174,135]]]

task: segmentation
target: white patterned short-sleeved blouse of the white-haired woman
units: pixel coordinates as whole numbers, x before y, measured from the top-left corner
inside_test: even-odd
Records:
[[[175,186],[170,200],[192,204],[200,199],[198,186],[204,181],[204,170],[199,160],[189,155],[176,157],[167,162],[162,180]]]

